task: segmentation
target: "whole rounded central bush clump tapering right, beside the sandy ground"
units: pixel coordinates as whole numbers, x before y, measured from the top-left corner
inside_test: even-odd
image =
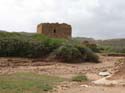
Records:
[[[72,44],[63,44],[53,52],[56,59],[64,62],[99,62],[98,56],[89,48]]]

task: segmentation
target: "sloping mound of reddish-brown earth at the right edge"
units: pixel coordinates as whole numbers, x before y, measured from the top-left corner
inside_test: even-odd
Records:
[[[125,85],[125,62],[116,63],[111,76],[93,82],[96,85]]]

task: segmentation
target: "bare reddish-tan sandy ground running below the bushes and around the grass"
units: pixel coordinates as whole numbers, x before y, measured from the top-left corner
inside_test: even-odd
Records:
[[[63,82],[53,93],[125,93],[124,86],[97,86],[92,81],[101,79],[99,72],[114,73],[116,62],[124,57],[100,57],[101,63],[66,64],[45,62],[40,59],[0,58],[0,74],[15,72],[35,72],[70,79],[77,74],[85,74],[89,82]],[[86,85],[87,87],[85,87]]]

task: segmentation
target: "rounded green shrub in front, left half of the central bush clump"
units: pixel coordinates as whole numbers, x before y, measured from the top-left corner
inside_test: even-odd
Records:
[[[61,59],[62,61],[65,62],[76,62],[76,61],[79,62],[82,58],[80,51],[76,47],[70,44],[64,44],[60,46],[54,52],[54,54],[56,55],[57,59]]]

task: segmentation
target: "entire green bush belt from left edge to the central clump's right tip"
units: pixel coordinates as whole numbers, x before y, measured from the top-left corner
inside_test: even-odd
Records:
[[[48,38],[40,34],[0,32],[1,57],[46,58],[53,55],[64,62],[98,62],[98,56],[91,49],[72,40]]]

